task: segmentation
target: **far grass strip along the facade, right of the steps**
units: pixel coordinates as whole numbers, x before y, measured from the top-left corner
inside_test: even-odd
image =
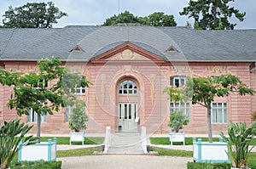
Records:
[[[213,142],[218,142],[219,138],[212,138]],[[202,142],[207,142],[208,138],[201,138]],[[150,138],[151,144],[160,144],[160,145],[168,145],[170,144],[169,138]],[[173,145],[182,145],[182,142],[174,142]],[[193,138],[185,138],[185,144],[186,145],[193,145]],[[256,138],[253,138],[251,145],[256,144]]]

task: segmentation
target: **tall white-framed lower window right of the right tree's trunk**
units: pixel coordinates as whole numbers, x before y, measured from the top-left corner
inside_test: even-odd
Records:
[[[227,104],[212,103],[212,123],[227,123],[227,120]]]

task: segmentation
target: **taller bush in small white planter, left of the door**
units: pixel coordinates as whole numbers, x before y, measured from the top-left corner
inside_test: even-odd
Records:
[[[69,128],[73,131],[70,132],[70,142],[82,142],[84,144],[84,131],[86,124],[85,121],[88,121],[88,116],[85,114],[85,104],[82,100],[77,100],[75,103],[75,108],[73,112],[69,115]]]

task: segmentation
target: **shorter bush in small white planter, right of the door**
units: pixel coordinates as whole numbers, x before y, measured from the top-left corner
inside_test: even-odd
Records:
[[[171,127],[170,132],[170,143],[172,142],[183,142],[185,144],[185,134],[184,132],[178,132],[183,129],[183,126],[189,123],[188,117],[183,114],[183,111],[174,111],[170,115],[170,121],[168,126]]]

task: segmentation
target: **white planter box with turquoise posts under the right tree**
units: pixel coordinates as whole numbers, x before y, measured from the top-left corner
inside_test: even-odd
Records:
[[[197,162],[228,162],[229,157],[227,144],[220,138],[219,142],[201,142],[201,138],[196,142],[193,138],[193,160]]]

